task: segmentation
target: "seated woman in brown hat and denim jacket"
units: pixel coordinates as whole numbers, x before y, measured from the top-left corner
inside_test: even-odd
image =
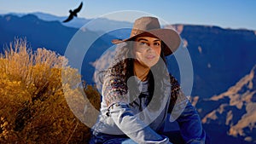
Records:
[[[161,29],[154,17],[137,19],[131,37],[113,40],[119,47],[117,62],[103,78],[91,144],[171,143],[172,135],[164,134],[168,113],[179,124],[185,143],[205,143],[201,118],[166,68],[165,57],[180,41],[177,32]]]

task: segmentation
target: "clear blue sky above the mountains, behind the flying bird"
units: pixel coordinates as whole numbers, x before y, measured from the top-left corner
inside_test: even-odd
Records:
[[[0,0],[0,13],[43,12],[65,16],[82,1],[84,7],[79,17],[84,18],[138,10],[159,16],[170,24],[256,30],[256,0]]]

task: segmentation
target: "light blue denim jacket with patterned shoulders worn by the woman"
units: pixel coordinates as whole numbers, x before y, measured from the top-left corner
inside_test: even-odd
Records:
[[[102,87],[101,112],[92,128],[92,135],[96,138],[98,134],[112,135],[116,138],[128,137],[132,141],[145,144],[171,143],[168,137],[161,133],[167,120],[171,122],[176,120],[184,141],[190,144],[204,143],[206,135],[202,130],[201,118],[195,107],[180,92],[177,80],[172,78],[170,75],[170,81],[162,84],[165,85],[165,92],[161,95],[166,96],[160,102],[158,111],[148,108],[147,82],[139,82],[141,93],[145,96],[134,100],[132,105],[131,101],[126,99],[130,96],[129,93],[122,94],[122,90],[116,90],[120,87],[111,85],[109,83],[111,79],[107,78]],[[171,108],[171,117],[167,119],[167,113],[170,112],[171,95],[178,96],[175,106]],[[107,140],[108,138],[103,141]]]

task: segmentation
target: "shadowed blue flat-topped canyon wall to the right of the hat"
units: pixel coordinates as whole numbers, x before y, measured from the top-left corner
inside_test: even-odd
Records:
[[[254,31],[223,29],[218,26],[173,27],[183,37],[192,59],[195,72],[194,95],[218,95],[230,85],[236,84],[256,64]],[[199,91],[201,94],[197,94]]]

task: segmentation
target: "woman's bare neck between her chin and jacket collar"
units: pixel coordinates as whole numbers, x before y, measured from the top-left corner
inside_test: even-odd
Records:
[[[139,78],[141,81],[146,81],[150,68],[148,66],[142,65],[137,60],[134,61],[133,66],[134,66],[133,72],[137,76],[137,78]]]

